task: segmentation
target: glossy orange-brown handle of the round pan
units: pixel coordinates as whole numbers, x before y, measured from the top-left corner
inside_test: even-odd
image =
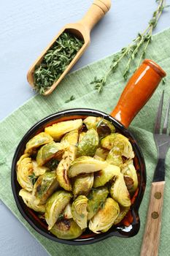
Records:
[[[125,86],[111,116],[128,128],[165,76],[166,72],[158,64],[145,59]]]

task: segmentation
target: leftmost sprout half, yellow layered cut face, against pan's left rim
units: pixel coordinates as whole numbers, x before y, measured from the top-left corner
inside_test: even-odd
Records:
[[[29,154],[23,154],[17,162],[17,180],[23,189],[32,191],[33,164]]]

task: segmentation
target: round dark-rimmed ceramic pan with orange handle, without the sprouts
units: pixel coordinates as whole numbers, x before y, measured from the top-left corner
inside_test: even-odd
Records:
[[[44,118],[42,121],[39,121],[34,125],[34,127],[31,127],[31,129],[28,130],[26,135],[20,141],[12,160],[12,192],[20,214],[23,215],[27,222],[32,227],[34,227],[38,233],[42,234],[46,238],[50,238],[53,241],[74,245],[92,244],[94,242],[108,238],[109,236],[120,236],[128,238],[135,236],[136,233],[138,233],[140,227],[139,206],[142,202],[142,197],[144,195],[144,189],[146,186],[146,170],[142,151],[136,143],[134,136],[131,135],[131,132],[128,131],[127,127],[131,123],[134,116],[136,116],[136,113],[138,113],[143,105],[147,102],[147,100],[150,99],[152,93],[155,91],[161,79],[165,75],[166,73],[163,72],[161,67],[155,64],[153,61],[145,60],[142,66],[139,67],[133,77],[129,80],[115,110],[113,110],[111,113],[111,116],[98,110],[85,108],[63,110],[59,113],[54,113],[53,115]],[[83,233],[82,236],[80,236],[80,238],[70,241],[63,240],[53,236],[53,234],[47,230],[47,224],[42,219],[39,219],[38,214],[28,208],[25,203],[23,203],[22,198],[19,196],[20,185],[17,181],[16,163],[18,162],[20,156],[23,154],[28,140],[34,137],[34,135],[37,133],[44,130],[45,127],[58,121],[75,118],[86,118],[87,116],[104,117],[115,125],[117,132],[122,133],[131,141],[131,144],[134,148],[134,165],[138,173],[139,187],[136,190],[136,194],[132,198],[131,210],[128,212],[128,215],[125,217],[125,219],[123,219],[123,222],[120,222],[120,224],[117,226],[109,229],[107,233],[94,234],[90,232],[90,230],[87,230],[86,233]]]

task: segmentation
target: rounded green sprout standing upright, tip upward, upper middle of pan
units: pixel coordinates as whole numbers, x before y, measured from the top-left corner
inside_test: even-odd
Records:
[[[85,133],[85,136],[82,138],[81,142],[77,147],[77,156],[90,156],[93,157],[97,146],[98,146],[98,133],[95,129],[89,129],[88,132]]]

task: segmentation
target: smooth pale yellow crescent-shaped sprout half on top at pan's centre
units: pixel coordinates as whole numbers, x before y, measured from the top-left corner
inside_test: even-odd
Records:
[[[94,159],[93,157],[78,157],[71,164],[69,177],[72,178],[81,173],[93,173],[104,169],[107,165],[107,162]]]

